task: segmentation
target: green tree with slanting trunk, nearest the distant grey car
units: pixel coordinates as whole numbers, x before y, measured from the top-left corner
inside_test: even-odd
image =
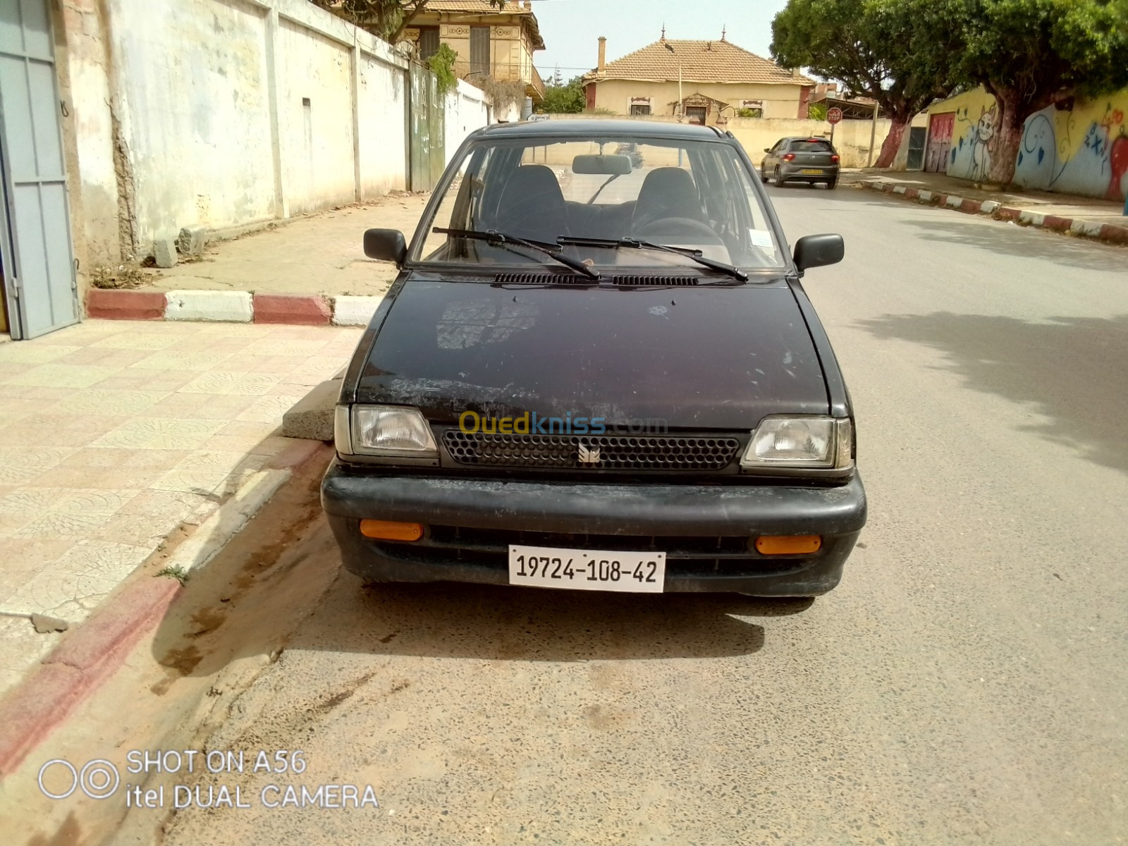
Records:
[[[952,90],[951,36],[931,0],[788,0],[772,21],[772,55],[872,97],[891,125],[875,162],[889,167],[913,116]]]

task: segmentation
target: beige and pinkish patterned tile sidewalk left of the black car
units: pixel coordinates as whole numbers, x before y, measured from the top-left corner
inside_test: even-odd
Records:
[[[0,610],[71,625],[292,443],[360,329],[88,320],[0,344]],[[60,635],[0,617],[0,693]]]

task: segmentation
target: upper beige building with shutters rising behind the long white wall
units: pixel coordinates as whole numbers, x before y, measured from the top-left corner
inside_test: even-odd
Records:
[[[430,0],[404,37],[424,62],[440,44],[449,44],[458,54],[455,73],[459,79],[519,80],[534,103],[545,98],[545,83],[532,64],[532,54],[544,50],[545,42],[530,0],[506,0],[501,8],[490,0]]]

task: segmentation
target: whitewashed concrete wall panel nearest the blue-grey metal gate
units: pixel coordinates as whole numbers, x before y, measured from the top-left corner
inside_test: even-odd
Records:
[[[108,7],[142,249],[190,223],[271,217],[263,14],[241,0]]]

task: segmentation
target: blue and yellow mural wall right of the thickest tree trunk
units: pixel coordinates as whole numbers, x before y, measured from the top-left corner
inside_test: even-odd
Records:
[[[1030,188],[1123,200],[1128,194],[1128,90],[1026,118],[1014,182]]]

